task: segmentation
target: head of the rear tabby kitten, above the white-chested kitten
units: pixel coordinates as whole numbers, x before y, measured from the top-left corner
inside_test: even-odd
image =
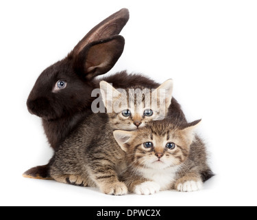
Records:
[[[152,120],[166,117],[171,105],[173,80],[167,80],[153,91],[144,87],[114,89],[105,81],[100,83],[100,88],[111,126],[133,131]]]

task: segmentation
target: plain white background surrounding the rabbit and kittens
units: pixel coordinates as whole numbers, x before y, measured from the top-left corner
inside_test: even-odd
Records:
[[[25,179],[52,155],[26,99],[36,78],[110,14],[128,8],[127,69],[162,83],[200,133],[217,174],[204,190],[114,197],[97,189]],[[1,206],[256,206],[256,1],[1,1]]]

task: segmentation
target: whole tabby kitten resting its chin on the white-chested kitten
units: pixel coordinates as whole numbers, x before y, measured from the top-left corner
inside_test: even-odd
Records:
[[[124,195],[127,186],[119,181],[119,174],[126,168],[125,152],[114,140],[113,131],[121,128],[137,129],[151,120],[158,120],[160,113],[151,106],[151,102],[144,101],[145,96],[140,89],[135,90],[133,105],[136,111],[132,111],[129,94],[125,100],[122,96],[124,91],[119,92],[106,82],[101,82],[100,86],[103,104],[107,110],[112,107],[112,112],[88,116],[69,135],[53,157],[50,175],[62,183],[98,187],[108,195]],[[167,91],[167,96],[155,96],[161,89]],[[164,104],[164,112],[168,112],[171,104],[172,89],[173,82],[168,80],[151,92],[154,97],[151,100]],[[115,109],[119,111],[115,112]]]

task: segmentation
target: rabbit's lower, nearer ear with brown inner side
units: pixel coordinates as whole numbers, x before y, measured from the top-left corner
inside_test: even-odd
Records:
[[[75,56],[73,67],[77,74],[87,80],[107,73],[117,63],[125,45],[123,36],[116,35],[94,41]]]

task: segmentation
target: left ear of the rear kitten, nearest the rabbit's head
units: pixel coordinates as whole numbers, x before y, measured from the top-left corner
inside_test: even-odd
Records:
[[[112,85],[110,85],[106,81],[100,82],[100,89],[103,103],[106,109],[112,107],[113,100],[119,98],[119,96],[121,95],[121,93],[117,89],[112,87]]]

